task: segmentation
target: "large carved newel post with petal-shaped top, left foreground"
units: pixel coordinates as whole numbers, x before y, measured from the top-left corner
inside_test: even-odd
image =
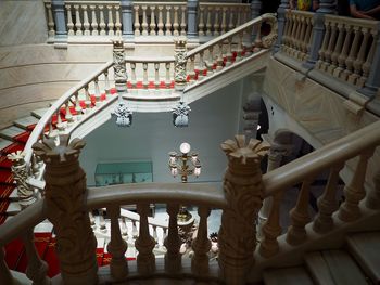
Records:
[[[97,239],[86,209],[86,173],[78,157],[85,142],[60,135],[35,143],[35,154],[46,164],[45,209],[56,234],[56,254],[64,284],[97,284]]]

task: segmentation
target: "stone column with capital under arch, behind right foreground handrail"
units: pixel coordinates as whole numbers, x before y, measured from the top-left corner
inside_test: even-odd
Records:
[[[268,165],[267,172],[275,170],[281,166],[281,160],[284,156],[289,156],[292,150],[292,145],[290,144],[280,144],[273,140],[268,134],[263,134],[263,140],[270,145],[270,150],[268,153]],[[258,238],[263,238],[263,226],[267,221],[270,210],[271,210],[273,197],[268,197],[264,199],[263,207],[258,212],[258,223],[257,223],[257,232]]]

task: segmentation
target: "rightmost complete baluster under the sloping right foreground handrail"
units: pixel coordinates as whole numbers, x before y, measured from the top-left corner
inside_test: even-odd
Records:
[[[366,196],[364,182],[366,179],[368,159],[373,154],[373,148],[366,150],[359,156],[359,161],[356,166],[355,173],[349,185],[345,185],[343,192],[345,200],[340,206],[338,217],[344,222],[351,222],[360,218],[362,212],[358,207],[359,202]]]

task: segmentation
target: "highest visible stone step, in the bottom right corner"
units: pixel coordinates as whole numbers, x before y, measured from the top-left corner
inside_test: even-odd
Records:
[[[365,232],[349,236],[350,252],[375,284],[380,284],[380,232]]]

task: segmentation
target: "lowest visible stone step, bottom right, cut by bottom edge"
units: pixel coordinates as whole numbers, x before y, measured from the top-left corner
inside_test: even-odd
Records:
[[[265,270],[265,285],[313,285],[313,280],[303,267]]]

